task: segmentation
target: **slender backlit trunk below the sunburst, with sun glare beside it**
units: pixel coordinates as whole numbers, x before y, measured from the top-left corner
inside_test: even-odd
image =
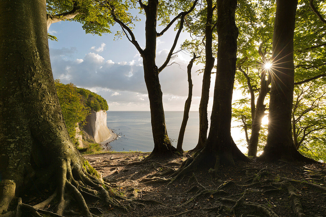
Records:
[[[248,156],[256,157],[257,156],[257,147],[259,140],[259,131],[261,128],[261,120],[265,116],[266,106],[264,105],[265,97],[268,93],[269,81],[265,79],[266,73],[261,73],[260,80],[260,91],[258,94],[257,105],[255,110],[255,116],[252,121],[251,126],[251,135],[248,142]]]

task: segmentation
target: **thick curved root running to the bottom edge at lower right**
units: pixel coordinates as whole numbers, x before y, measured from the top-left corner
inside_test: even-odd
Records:
[[[305,217],[306,215],[304,214],[301,200],[299,196],[296,194],[296,192],[299,192],[298,189],[294,188],[289,181],[276,182],[273,184],[276,186],[282,186],[283,188],[286,188],[288,190],[295,214],[298,217]]]

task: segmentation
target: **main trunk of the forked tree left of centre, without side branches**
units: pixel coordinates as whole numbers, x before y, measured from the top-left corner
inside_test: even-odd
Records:
[[[157,21],[157,0],[148,1],[145,23],[146,48],[143,51],[144,78],[148,91],[148,98],[151,110],[151,123],[154,138],[154,150],[150,158],[176,152],[168,137],[162,101],[161,85],[158,79],[156,58],[156,21]]]

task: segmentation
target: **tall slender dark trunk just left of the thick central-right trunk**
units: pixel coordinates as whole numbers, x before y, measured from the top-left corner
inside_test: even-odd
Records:
[[[207,106],[209,100],[209,89],[211,86],[211,74],[214,67],[215,58],[213,57],[212,41],[213,41],[213,1],[206,0],[207,2],[207,20],[205,25],[205,68],[203,73],[203,83],[201,88],[201,98],[199,104],[199,138],[196,147],[192,151],[200,150],[204,146],[207,139],[208,130],[208,117]]]

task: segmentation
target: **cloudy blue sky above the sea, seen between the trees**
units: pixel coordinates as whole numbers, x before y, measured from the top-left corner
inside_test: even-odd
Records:
[[[141,17],[142,18],[142,17]],[[144,47],[144,21],[136,23],[133,30],[136,40]],[[158,32],[164,27],[158,26]],[[156,65],[165,61],[173,43],[175,32],[171,27],[163,36],[157,38]],[[85,34],[78,22],[61,21],[53,23],[48,32],[58,38],[49,40],[50,57],[54,79],[74,83],[77,87],[89,89],[104,97],[109,110],[146,111],[149,100],[144,81],[142,58],[136,48],[123,36],[114,40],[114,33],[120,30],[115,24],[111,34],[93,36]],[[180,35],[176,50],[189,38],[189,33]],[[175,50],[175,51],[176,51]],[[188,95],[187,65],[192,58],[185,52],[178,56],[160,74],[159,79],[166,111],[183,111]],[[198,111],[201,95],[202,74],[197,70],[203,64],[192,68],[193,98],[191,111]],[[215,74],[212,74],[209,110],[212,108]],[[234,99],[240,94],[234,93]]]

